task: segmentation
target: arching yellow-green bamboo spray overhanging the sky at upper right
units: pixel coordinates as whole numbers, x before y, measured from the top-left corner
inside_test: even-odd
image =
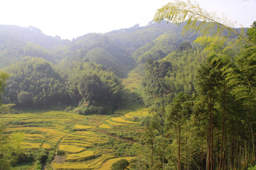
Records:
[[[215,60],[227,56],[227,52],[228,55],[230,55],[229,50],[239,49],[244,51],[244,46],[246,45],[246,51],[251,52],[249,52],[249,61],[245,62],[246,60],[238,57],[236,58],[235,64],[239,72],[241,72],[241,77],[244,78],[244,81],[247,83],[248,89],[251,91],[251,96],[256,100],[255,91],[251,85],[252,82],[249,80],[249,75],[246,73],[246,69],[251,68],[249,63],[255,58],[255,53],[252,52],[256,49],[255,24],[249,29],[247,33],[249,36],[246,36],[244,29],[238,31],[234,28],[235,22],[231,22],[225,16],[223,18],[217,17],[215,13],[207,12],[202,9],[198,3],[192,3],[191,1],[170,2],[158,9],[155,13],[154,21],[160,22],[163,19],[176,24],[186,21],[186,26],[183,28],[184,33],[190,29],[200,32],[202,36],[198,37],[196,42],[203,44],[207,50],[217,54]],[[228,42],[228,36],[223,36],[224,32],[227,32],[229,37],[238,36],[239,38],[229,40]],[[249,53],[247,53],[247,55]],[[239,62],[239,58],[242,59],[242,62]],[[226,73],[229,73],[225,76],[227,80],[236,76],[233,74],[233,69],[226,69]]]

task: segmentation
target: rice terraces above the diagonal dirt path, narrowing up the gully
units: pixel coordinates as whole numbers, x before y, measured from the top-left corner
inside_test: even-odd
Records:
[[[138,97],[134,94],[134,89],[138,87],[140,78],[136,73],[130,73],[129,77],[122,80],[124,87],[124,99],[122,108],[117,110],[118,117],[107,119],[96,129],[104,131],[124,139],[133,139],[139,136],[144,130],[136,119],[149,115],[148,108],[139,103]]]

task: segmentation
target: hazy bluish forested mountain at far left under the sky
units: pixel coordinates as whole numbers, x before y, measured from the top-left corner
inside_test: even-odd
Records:
[[[22,56],[41,57],[54,62],[49,49],[58,45],[69,45],[70,40],[59,36],[48,36],[38,28],[0,25],[0,68],[21,60]]]

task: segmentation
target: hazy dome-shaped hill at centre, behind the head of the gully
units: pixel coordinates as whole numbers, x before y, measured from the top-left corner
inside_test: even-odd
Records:
[[[102,64],[114,71],[118,76],[126,76],[126,72],[135,67],[134,60],[121,47],[115,45],[108,36],[103,34],[86,34],[74,41],[74,53],[64,61],[91,61]]]

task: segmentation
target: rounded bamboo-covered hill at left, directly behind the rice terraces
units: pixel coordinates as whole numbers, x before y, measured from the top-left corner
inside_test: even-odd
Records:
[[[32,58],[5,69],[10,73],[7,82],[5,103],[22,107],[43,107],[72,103],[69,86],[50,64]]]

